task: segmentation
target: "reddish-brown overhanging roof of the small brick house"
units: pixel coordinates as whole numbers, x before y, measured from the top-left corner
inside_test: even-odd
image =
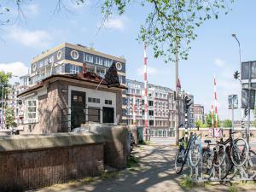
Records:
[[[34,86],[30,87],[28,90],[25,90],[21,92],[18,96],[23,96],[25,94],[28,94],[32,92],[33,90],[38,90],[39,88],[44,87],[44,83],[48,81],[49,79],[54,79],[54,78],[64,78],[64,79],[74,79],[74,80],[79,80],[81,82],[88,82],[88,83],[93,83],[93,84],[102,84],[105,85],[108,88],[108,84],[99,75],[93,72],[86,72],[86,73],[79,73],[79,74],[54,74],[51,75],[42,81],[40,81],[38,84],[35,84]],[[127,88],[124,85],[113,85],[112,87],[114,88],[119,88],[122,90],[126,90]]]

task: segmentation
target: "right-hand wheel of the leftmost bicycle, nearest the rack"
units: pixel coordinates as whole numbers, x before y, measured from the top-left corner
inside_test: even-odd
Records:
[[[201,141],[195,137],[189,148],[189,163],[191,166],[197,166],[201,157]]]

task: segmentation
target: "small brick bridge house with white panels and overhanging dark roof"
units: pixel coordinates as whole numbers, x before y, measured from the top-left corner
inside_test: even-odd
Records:
[[[67,132],[88,121],[121,122],[123,90],[123,85],[108,88],[92,72],[51,75],[19,95],[25,103],[24,133]]]

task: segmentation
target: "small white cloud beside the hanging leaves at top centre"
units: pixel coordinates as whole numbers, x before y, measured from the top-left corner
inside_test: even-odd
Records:
[[[112,17],[112,18],[109,18],[108,20],[106,20],[103,23],[103,27],[105,27],[107,29],[123,31],[125,29],[125,22],[126,21],[127,21],[127,18],[125,16]]]

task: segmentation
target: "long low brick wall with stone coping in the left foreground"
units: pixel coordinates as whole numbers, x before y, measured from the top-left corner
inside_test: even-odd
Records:
[[[36,189],[103,172],[95,133],[0,137],[0,191]]]

